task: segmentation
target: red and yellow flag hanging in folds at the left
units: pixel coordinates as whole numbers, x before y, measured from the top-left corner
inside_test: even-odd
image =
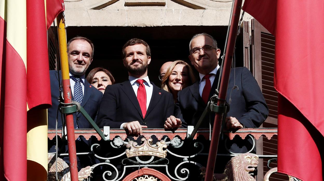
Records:
[[[46,180],[46,30],[63,0],[0,0],[0,180]]]

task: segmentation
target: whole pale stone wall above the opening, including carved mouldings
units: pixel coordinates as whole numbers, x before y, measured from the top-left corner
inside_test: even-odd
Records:
[[[66,0],[67,26],[227,26],[231,0]],[[252,17],[244,16],[245,21]]]

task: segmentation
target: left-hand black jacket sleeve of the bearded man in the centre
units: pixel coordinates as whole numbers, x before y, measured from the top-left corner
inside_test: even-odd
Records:
[[[120,122],[115,122],[117,97],[114,90],[115,89],[112,88],[112,86],[107,86],[102,97],[97,118],[99,128],[110,126],[112,129],[118,129],[121,126]]]

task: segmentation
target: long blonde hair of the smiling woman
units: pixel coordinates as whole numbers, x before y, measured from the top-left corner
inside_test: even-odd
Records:
[[[188,68],[190,85],[193,84],[194,82],[196,82],[196,78],[195,78],[195,75],[193,74],[191,66],[185,61],[176,60],[176,61],[172,62],[171,65],[168,67],[167,72],[165,73],[165,75],[164,75],[164,77],[162,79],[162,82],[161,82],[161,89],[163,89],[165,91],[168,91],[168,92],[171,92],[171,90],[170,90],[170,88],[168,86],[169,77],[170,77],[170,75],[172,73],[172,70],[174,69],[174,67],[177,64],[182,64],[182,65],[184,65],[185,67]]]

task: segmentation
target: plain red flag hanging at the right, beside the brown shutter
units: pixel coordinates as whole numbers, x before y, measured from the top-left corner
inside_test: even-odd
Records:
[[[246,0],[243,9],[276,37],[274,86],[280,94],[278,171],[305,181],[321,181],[324,2]],[[261,15],[260,9],[264,11]],[[264,16],[272,12],[276,16]],[[275,18],[275,23],[271,23],[271,18]]]

